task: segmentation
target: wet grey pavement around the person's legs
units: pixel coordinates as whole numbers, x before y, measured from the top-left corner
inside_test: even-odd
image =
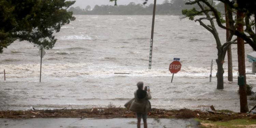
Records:
[[[194,119],[147,119],[148,128],[199,128]],[[136,118],[0,119],[1,128],[136,128]],[[143,128],[143,121],[141,122]]]

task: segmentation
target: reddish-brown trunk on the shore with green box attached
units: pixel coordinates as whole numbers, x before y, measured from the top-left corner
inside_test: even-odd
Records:
[[[239,6],[239,3],[238,3]],[[237,30],[243,32],[243,12],[237,12],[238,27]],[[244,57],[244,40],[237,37],[237,54],[238,54],[238,72],[244,76],[244,85],[239,85],[240,112],[248,112],[247,94],[246,94],[246,75],[245,75],[245,57]]]

